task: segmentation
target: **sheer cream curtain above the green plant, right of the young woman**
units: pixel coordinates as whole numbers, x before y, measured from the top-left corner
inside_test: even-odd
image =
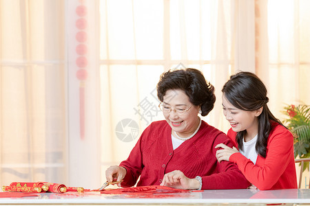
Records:
[[[256,0],[256,72],[280,119],[286,104],[310,104],[309,8],[307,0]]]

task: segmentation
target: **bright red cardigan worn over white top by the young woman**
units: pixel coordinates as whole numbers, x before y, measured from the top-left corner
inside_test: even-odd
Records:
[[[227,136],[236,148],[236,133],[229,129]],[[293,135],[284,126],[273,122],[267,141],[266,158],[258,155],[256,164],[239,152],[230,156],[247,180],[260,190],[297,188],[293,150]]]

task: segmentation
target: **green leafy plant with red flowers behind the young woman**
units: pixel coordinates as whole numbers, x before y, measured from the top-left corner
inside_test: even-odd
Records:
[[[291,130],[294,135],[294,154],[295,158],[310,157],[310,105],[293,104],[285,106],[285,115],[287,119],[283,121],[285,126]],[[304,163],[304,170],[308,168],[309,163]]]

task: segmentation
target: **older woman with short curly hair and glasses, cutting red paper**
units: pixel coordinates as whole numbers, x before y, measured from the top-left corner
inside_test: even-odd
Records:
[[[165,120],[142,133],[127,160],[105,172],[118,187],[164,185],[185,190],[241,189],[249,182],[229,161],[216,159],[215,146],[232,147],[225,133],[202,121],[216,100],[214,87],[197,69],[167,71],[157,84]]]

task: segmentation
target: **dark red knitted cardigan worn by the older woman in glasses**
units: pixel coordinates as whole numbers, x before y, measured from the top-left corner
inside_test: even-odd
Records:
[[[160,185],[164,174],[180,170],[188,178],[202,176],[203,190],[242,189],[249,186],[236,164],[218,163],[217,144],[232,146],[225,133],[202,122],[198,133],[178,148],[172,148],[172,129],[164,121],[153,122],[141,135],[127,160],[120,166],[127,174],[122,187]]]

